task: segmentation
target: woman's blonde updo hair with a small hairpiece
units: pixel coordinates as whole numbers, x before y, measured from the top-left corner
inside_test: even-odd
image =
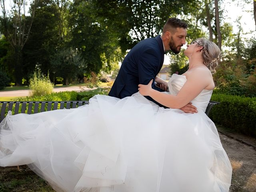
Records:
[[[216,73],[215,68],[218,65],[218,60],[220,56],[220,48],[214,43],[204,38],[196,39],[198,46],[202,46],[202,56],[204,59],[204,64],[213,73]]]

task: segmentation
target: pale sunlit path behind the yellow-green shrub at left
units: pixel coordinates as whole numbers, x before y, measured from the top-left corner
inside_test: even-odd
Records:
[[[63,91],[86,91],[91,90],[91,88],[87,88],[85,86],[70,86],[70,87],[61,87],[61,88],[54,88],[53,92],[63,92]],[[0,92],[0,98],[1,97],[25,97],[30,96],[31,91],[30,90],[16,90],[16,91],[1,91]]]

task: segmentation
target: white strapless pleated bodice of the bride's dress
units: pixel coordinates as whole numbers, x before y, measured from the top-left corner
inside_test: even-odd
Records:
[[[173,74],[168,82],[170,94],[177,95],[182,86],[185,84],[186,80],[186,76],[184,75]],[[198,108],[198,111],[205,112],[211,96],[212,90],[204,89],[191,102]]]

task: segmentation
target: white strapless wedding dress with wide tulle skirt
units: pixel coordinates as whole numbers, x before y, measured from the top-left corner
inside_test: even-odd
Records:
[[[168,82],[177,94],[186,77]],[[228,192],[232,167],[204,113],[164,109],[136,93],[96,95],[89,105],[7,115],[0,124],[0,166],[28,164],[58,192]]]

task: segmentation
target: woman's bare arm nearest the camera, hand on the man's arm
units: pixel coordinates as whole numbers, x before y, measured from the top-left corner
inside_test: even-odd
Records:
[[[152,83],[152,81],[150,83]],[[204,72],[200,73],[200,71],[190,74],[186,83],[182,86],[176,96],[158,92],[151,88],[150,83],[148,85],[139,85],[140,94],[143,96],[150,96],[166,107],[180,109],[196,98],[196,96],[210,84],[210,78],[208,74]]]

